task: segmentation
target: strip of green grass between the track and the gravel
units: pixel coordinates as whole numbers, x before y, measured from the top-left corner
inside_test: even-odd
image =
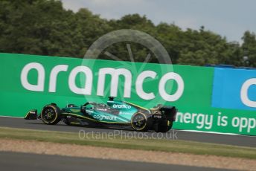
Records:
[[[104,136],[102,136],[99,138],[100,135],[93,134],[95,133],[87,133],[86,138],[81,138],[79,137],[78,132],[52,132],[0,127],[0,138],[256,159],[256,148],[252,147],[166,139],[124,139],[119,136],[116,136],[115,138],[104,138]]]

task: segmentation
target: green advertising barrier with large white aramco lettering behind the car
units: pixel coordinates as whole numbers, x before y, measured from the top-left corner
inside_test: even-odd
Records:
[[[23,54],[0,59],[3,116],[24,117],[52,102],[105,103],[113,95],[147,108],[176,106],[174,129],[256,135],[255,112],[211,107],[214,68]]]

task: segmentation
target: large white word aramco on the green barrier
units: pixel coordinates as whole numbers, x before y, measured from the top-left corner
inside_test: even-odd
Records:
[[[31,69],[36,69],[38,76],[37,76],[37,83],[36,85],[33,85],[28,82],[28,73],[31,71]],[[68,65],[56,65],[52,70],[50,74],[49,79],[49,92],[56,92],[56,85],[57,85],[57,77],[58,74],[61,71],[67,71]],[[77,74],[83,73],[86,76],[86,80],[84,83],[83,88],[79,88],[76,85],[76,77]],[[106,74],[110,74],[111,79],[111,88],[110,88],[110,95],[111,96],[117,96],[118,95],[118,79],[119,76],[124,76],[124,97],[130,97],[131,96],[131,87],[132,87],[132,74],[129,70],[126,68],[100,68],[99,76],[98,76],[98,82],[97,82],[97,95],[103,96],[104,95],[104,86],[105,86],[105,80],[106,80]],[[135,90],[139,97],[143,100],[151,100],[155,98],[155,94],[153,92],[146,93],[143,89],[143,83],[144,80],[147,77],[151,77],[152,79],[156,78],[156,72],[154,71],[143,71],[141,74],[138,74],[138,77],[135,81]],[[75,94],[85,94],[90,95],[92,94],[92,80],[93,80],[93,74],[92,70],[87,66],[77,66],[71,70],[71,73],[68,77],[68,86],[72,92]],[[175,80],[178,84],[177,91],[170,95],[166,92],[165,86],[168,80]],[[37,62],[31,62],[25,65],[25,67],[22,69],[21,73],[21,82],[22,86],[28,90],[31,91],[44,91],[45,87],[45,68]],[[163,77],[161,77],[161,80],[159,81],[159,94],[160,96],[166,100],[166,101],[176,101],[178,100],[184,91],[184,82],[182,80],[182,77],[179,74],[176,74],[174,72],[169,72],[167,74],[164,74]]]

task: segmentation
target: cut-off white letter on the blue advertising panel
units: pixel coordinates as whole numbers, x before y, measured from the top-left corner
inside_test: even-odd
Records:
[[[256,101],[249,100],[248,97],[248,89],[252,85],[256,85],[256,78],[246,80],[246,82],[243,83],[243,86],[240,91],[240,97],[244,105],[256,108]]]

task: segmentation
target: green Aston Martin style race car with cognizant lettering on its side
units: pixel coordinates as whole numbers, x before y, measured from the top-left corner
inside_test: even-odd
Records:
[[[83,106],[68,104],[60,109],[56,103],[51,103],[42,108],[41,113],[36,109],[28,112],[25,120],[42,120],[43,123],[55,125],[60,121],[67,125],[128,127],[135,131],[167,132],[176,119],[175,106],[157,105],[153,109],[109,97],[105,103],[87,102]]]

